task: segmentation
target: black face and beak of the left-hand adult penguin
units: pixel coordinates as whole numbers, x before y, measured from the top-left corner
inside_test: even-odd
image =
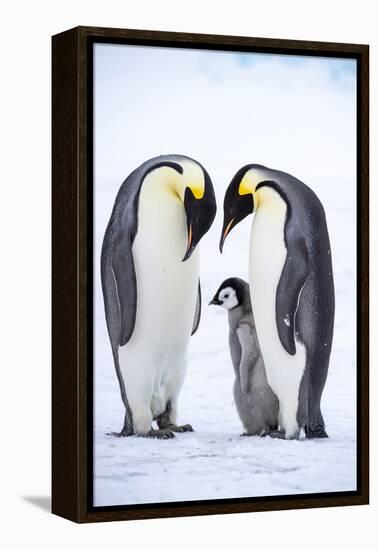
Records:
[[[213,186],[207,174],[205,175],[205,192],[202,198],[196,199],[189,187],[185,189],[184,208],[188,242],[183,262],[191,257],[199,241],[210,229],[217,211]]]

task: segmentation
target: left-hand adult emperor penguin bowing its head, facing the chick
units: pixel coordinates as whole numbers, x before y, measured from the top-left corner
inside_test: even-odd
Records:
[[[101,253],[105,315],[125,405],[116,435],[168,439],[192,431],[189,424],[177,426],[177,401],[201,315],[197,245],[215,213],[208,173],[182,155],[148,160],[119,189]]]

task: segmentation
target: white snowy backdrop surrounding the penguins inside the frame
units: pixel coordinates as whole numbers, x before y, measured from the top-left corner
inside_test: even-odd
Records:
[[[138,116],[143,113],[144,124],[147,124],[146,120],[154,121],[152,117],[155,115],[152,103],[149,104],[148,90],[151,86],[147,84],[152,85],[151,82],[146,81],[145,92],[138,88],[140,79],[148,78],[148,71],[147,76],[146,72],[142,75],[138,73],[138,67],[147,64],[151,74],[155,74],[153,69],[157,71],[159,68],[157,58],[165,55],[165,52],[157,52],[157,48],[151,50],[155,53],[145,54],[144,64],[142,58],[138,58],[143,52],[131,56],[138,77],[133,82],[125,82],[122,80],[123,72],[115,70],[119,66],[124,67],[122,64],[126,63],[124,47],[111,50],[112,55],[109,56],[109,46],[101,45],[101,50],[98,50],[101,55],[96,61],[94,504],[107,506],[354,490],[356,182],[352,139],[355,129],[353,78],[348,73],[345,78],[334,81],[331,72],[336,65],[330,68],[330,60],[324,60],[324,65],[308,61],[308,64],[312,63],[309,70],[306,64],[288,64],[272,60],[269,56],[268,61],[258,60],[251,66],[244,62],[235,66],[234,62],[229,61],[232,82],[222,81],[219,88],[220,75],[223,73],[218,69],[224,65],[213,61],[219,60],[220,54],[212,52],[211,63],[209,53],[202,53],[202,57],[201,52],[195,52],[192,57],[188,54],[187,60],[183,62],[188,88],[194,82],[199,83],[203,92],[201,105],[195,98],[193,104],[190,104],[185,87],[180,88],[186,108],[191,106],[191,114],[200,110],[198,116],[193,115],[194,126],[190,126],[190,117],[185,113],[187,131],[182,137],[183,132],[175,126],[180,121],[170,116],[173,111],[170,111],[169,94],[176,95],[178,85],[170,86],[169,82],[164,81],[159,86],[154,81],[154,98],[159,103],[164,96],[165,117],[172,123],[169,123],[169,131],[164,132],[160,115],[156,115],[158,131],[152,125],[151,132],[143,141],[143,132],[139,134]],[[158,57],[154,57],[155,54]],[[169,57],[170,54],[166,55]],[[170,66],[174,62],[171,59]],[[272,63],[274,71],[271,70]],[[184,69],[179,66],[175,78],[180,78]],[[261,102],[256,112],[252,109],[248,116],[244,113],[244,118],[236,116],[238,105],[234,103],[232,116],[223,113],[222,102],[239,97],[236,94],[240,94],[241,84],[249,83],[248,71],[252,70],[257,71],[260,82],[264,78],[265,82],[271,81],[274,78],[272,73],[279,75],[278,91],[273,86],[267,92],[266,86],[261,84],[265,92],[264,99],[274,105],[273,114],[264,109]],[[300,81],[298,96],[291,82],[293,79],[298,82],[301,71],[307,71],[308,74]],[[314,71],[316,74],[312,76]],[[110,78],[111,83],[106,84]],[[173,82],[176,83],[175,80]],[[131,107],[125,107],[124,97],[120,93],[120,90],[126,90],[126,84],[129,97],[134,98]],[[137,91],[141,96],[138,105],[135,99]],[[218,91],[220,98],[215,93]],[[260,92],[253,91],[261,99],[258,95]],[[304,94],[307,94],[307,105],[301,106],[299,101]],[[241,94],[240,103],[243,105],[244,101]],[[279,109],[282,102],[286,103],[281,115]],[[311,102],[312,109],[308,113],[308,103]],[[173,100],[172,104],[172,109],[177,109]],[[290,139],[276,143],[274,135],[265,131],[261,137],[263,115],[264,124],[273,124],[277,116],[281,116],[281,122],[284,123],[285,117],[301,112],[302,107],[307,118],[303,121],[303,117],[297,116],[291,120],[293,131]],[[220,113],[226,122],[223,120],[221,125],[217,125]],[[238,123],[233,122],[235,117]],[[196,126],[198,120],[203,130],[200,133]],[[126,128],[133,123],[135,132],[132,135],[125,132],[121,139],[122,124]],[[237,127],[232,127],[232,124],[237,124]],[[306,134],[308,143],[304,147],[305,140],[301,132],[304,127],[308,129],[310,124],[313,131]],[[215,126],[212,138],[208,133],[211,125]],[[247,127],[247,130],[244,130],[240,147],[233,147],[235,136],[243,131],[242,127]],[[250,134],[251,127],[254,131]],[[143,135],[146,135],[145,129]],[[193,135],[197,139],[193,139]],[[330,156],[330,150],[333,150],[333,156]],[[219,153],[216,154],[217,151]],[[175,439],[164,441],[137,437],[115,438],[107,433],[121,429],[123,405],[105,326],[99,253],[120,183],[140,162],[165,152],[181,152],[198,158],[213,180],[218,202],[216,220],[200,243],[202,318],[197,333],[191,339],[188,372],[179,403],[179,422],[191,423],[195,432],[177,434]],[[335,335],[322,400],[329,439],[285,441],[240,436],[243,428],[232,397],[234,374],[227,342],[227,313],[207,303],[227,277],[240,276],[247,279],[251,217],[230,233],[222,256],[218,251],[224,191],[236,170],[247,162],[265,162],[271,167],[290,171],[309,184],[325,206],[336,288]]]

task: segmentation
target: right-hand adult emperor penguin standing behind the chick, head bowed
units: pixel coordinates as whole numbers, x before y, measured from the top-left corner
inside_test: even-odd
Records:
[[[328,437],[320,408],[333,339],[335,294],[324,208],[300,180],[259,164],[233,177],[220,241],[255,212],[249,247],[253,314],[286,439]]]

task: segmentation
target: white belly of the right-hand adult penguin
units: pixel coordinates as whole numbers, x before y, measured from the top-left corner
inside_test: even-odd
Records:
[[[275,196],[271,196],[272,193]],[[267,379],[280,403],[280,427],[290,438],[298,430],[298,398],[306,350],[296,342],[296,354],[290,355],[279,339],[276,290],[286,259],[286,204],[273,190],[265,189],[264,195],[267,200],[261,201],[251,230],[250,293]]]

